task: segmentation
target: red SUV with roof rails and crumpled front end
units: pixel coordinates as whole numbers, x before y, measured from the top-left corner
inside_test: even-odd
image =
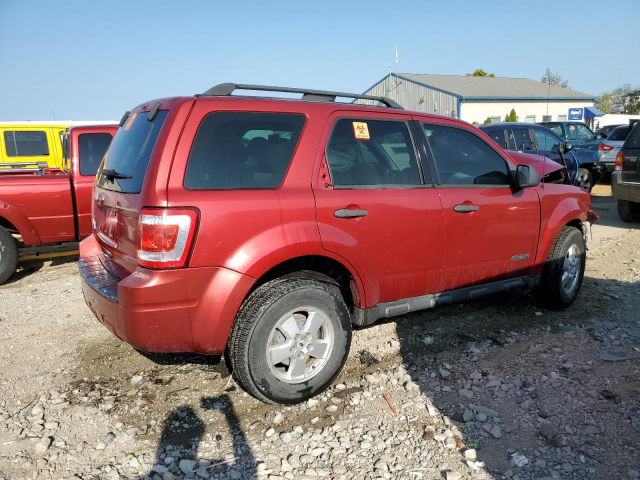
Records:
[[[339,374],[353,324],[518,287],[566,307],[588,208],[563,166],[456,118],[221,84],[125,114],[79,266],[118,338],[226,350],[248,392],[291,404]]]

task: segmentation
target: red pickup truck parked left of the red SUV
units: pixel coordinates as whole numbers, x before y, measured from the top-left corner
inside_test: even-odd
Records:
[[[117,125],[69,127],[66,168],[0,164],[0,284],[15,271],[20,246],[78,241],[92,232],[95,173]]]

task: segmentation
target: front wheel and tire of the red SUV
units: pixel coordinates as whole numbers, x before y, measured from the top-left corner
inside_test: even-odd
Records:
[[[538,287],[538,296],[547,307],[561,309],[573,303],[582,285],[585,260],[582,232],[564,227],[549,251]]]

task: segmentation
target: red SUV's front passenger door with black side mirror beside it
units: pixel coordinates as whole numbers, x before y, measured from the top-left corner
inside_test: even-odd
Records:
[[[531,273],[540,228],[534,188],[514,189],[504,152],[453,122],[422,122],[444,212],[438,292]]]

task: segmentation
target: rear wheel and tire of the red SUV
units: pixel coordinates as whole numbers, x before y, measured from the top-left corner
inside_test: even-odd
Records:
[[[294,404],[338,376],[351,346],[351,317],[331,285],[287,276],[261,285],[232,324],[228,355],[237,382],[259,400]]]

